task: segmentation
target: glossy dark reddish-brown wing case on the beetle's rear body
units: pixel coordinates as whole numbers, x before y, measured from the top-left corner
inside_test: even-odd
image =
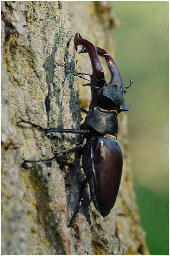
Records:
[[[89,184],[91,198],[98,212],[105,217],[116,201],[121,173],[122,153],[115,138],[95,137],[86,145],[82,165]]]

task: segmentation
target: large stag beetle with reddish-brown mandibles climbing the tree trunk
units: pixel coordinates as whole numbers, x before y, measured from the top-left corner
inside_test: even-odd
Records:
[[[86,138],[86,144],[84,146],[79,144],[74,148],[48,159],[52,160],[58,158],[78,148],[82,150],[82,166],[86,178],[81,185],[78,206],[75,209],[68,227],[72,226],[84,200],[84,189],[87,183],[90,185],[90,193],[94,206],[103,217],[107,216],[114,206],[123,165],[121,149],[117,142],[117,114],[129,110],[129,107],[124,103],[124,94],[126,93],[124,89],[129,88],[133,83],[131,79],[130,85],[122,89],[122,79],[118,68],[111,55],[104,49],[96,47],[93,43],[83,39],[79,33],[75,34],[74,44],[76,50],[79,45],[82,46],[82,50],[80,50],[79,53],[88,53],[92,65],[92,75],[90,75],[91,83],[87,84],[91,87],[92,100],[86,119],[81,125],[80,130],[44,129],[39,125],[23,119],[18,122],[29,123],[38,129],[44,130],[47,134],[51,132],[80,133],[83,138]],[[99,55],[106,60],[110,70],[111,79],[109,83],[105,80]],[[25,161],[37,162],[31,160]]]

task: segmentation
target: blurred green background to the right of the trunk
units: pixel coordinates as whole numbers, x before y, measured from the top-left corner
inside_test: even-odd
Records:
[[[141,224],[151,255],[169,255],[169,2],[112,1],[116,62],[130,107],[128,130]]]

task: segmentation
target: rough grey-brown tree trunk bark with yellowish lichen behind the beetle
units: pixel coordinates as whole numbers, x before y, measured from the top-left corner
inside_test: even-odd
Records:
[[[67,4],[1,2],[1,254],[147,255],[132,186],[126,115],[119,118],[124,158],[120,191],[115,207],[105,219],[89,202],[86,192],[74,227],[67,228],[84,179],[78,153],[50,162],[23,161],[50,158],[81,139],[74,134],[47,137],[30,125],[17,125],[23,118],[43,127],[80,127],[79,86],[73,75],[73,30],[114,55],[113,48],[109,48],[109,27],[114,24],[109,4],[69,2],[73,30]],[[80,58],[77,68],[90,72],[85,59]]]

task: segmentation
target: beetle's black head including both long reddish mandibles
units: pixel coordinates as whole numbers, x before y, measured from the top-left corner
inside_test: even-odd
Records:
[[[88,40],[83,39],[79,33],[76,33],[74,38],[75,47],[77,50],[78,45],[82,45],[82,50],[79,53],[89,54],[93,73],[91,75],[91,92],[92,102],[90,108],[99,106],[105,110],[116,110],[118,113],[121,111],[129,110],[129,107],[124,103],[124,94],[126,91],[122,89],[122,79],[119,70],[112,58],[112,56],[106,52],[106,50],[96,47]],[[109,83],[106,83],[103,69],[100,64],[98,55],[106,60],[108,68],[111,73],[111,79]],[[125,87],[129,88],[132,84]]]

